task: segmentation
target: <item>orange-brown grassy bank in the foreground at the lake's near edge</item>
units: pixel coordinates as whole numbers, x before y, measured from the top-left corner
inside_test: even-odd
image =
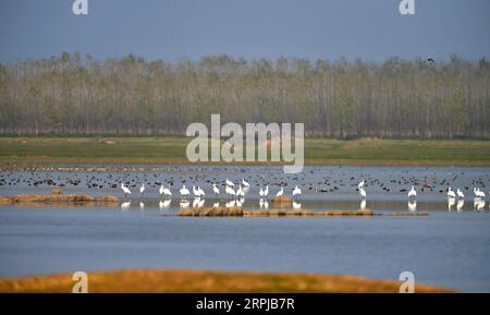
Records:
[[[0,279],[0,292],[71,292],[72,275]],[[88,292],[380,292],[396,293],[401,282],[353,276],[197,270],[88,272]],[[416,292],[453,292],[415,286]]]

